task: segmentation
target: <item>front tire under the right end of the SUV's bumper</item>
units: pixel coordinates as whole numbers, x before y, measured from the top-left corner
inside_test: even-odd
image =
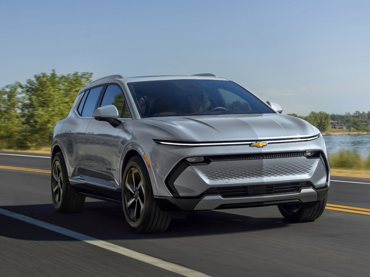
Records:
[[[322,200],[296,204],[278,205],[280,213],[289,221],[312,221],[322,215],[327,201],[326,195]]]

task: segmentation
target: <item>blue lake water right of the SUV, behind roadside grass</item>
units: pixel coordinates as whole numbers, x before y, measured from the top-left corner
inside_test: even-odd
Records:
[[[340,150],[356,150],[362,157],[370,155],[370,135],[335,135],[323,136],[328,153]]]

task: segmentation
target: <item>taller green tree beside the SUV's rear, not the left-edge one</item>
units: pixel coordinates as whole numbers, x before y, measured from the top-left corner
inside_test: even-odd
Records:
[[[50,75],[34,75],[34,80],[28,79],[21,85],[24,126],[19,146],[35,148],[50,144],[54,123],[68,115],[78,91],[91,81],[91,76],[89,72],[58,76],[52,70]]]

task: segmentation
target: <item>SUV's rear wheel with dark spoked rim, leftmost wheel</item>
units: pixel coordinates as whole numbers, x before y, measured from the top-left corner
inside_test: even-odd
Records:
[[[65,160],[60,152],[55,154],[51,166],[51,196],[58,212],[80,212],[85,204],[85,196],[77,194],[68,180]]]

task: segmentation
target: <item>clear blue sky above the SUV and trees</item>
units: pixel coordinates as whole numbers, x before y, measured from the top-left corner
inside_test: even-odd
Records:
[[[0,88],[211,72],[283,113],[370,110],[370,1],[0,0]]]

